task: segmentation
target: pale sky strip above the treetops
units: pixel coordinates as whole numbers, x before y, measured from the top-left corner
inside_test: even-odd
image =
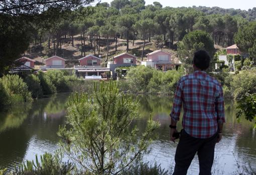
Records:
[[[101,0],[101,3],[107,2],[110,4],[112,0]],[[206,6],[206,7],[220,7],[224,9],[241,9],[248,10],[256,7],[255,0],[145,0],[146,5],[153,4],[153,2],[159,2],[163,7],[192,7],[192,6]]]

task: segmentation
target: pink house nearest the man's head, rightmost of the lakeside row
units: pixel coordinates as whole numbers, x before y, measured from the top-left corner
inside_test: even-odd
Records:
[[[146,55],[147,61],[142,61],[142,65],[150,66],[158,70],[168,71],[177,69],[180,62],[175,63],[171,60],[172,55],[162,50],[157,50]]]

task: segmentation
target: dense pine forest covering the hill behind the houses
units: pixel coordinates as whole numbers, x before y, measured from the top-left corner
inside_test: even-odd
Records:
[[[248,11],[217,7],[163,8],[159,2],[145,6],[144,0],[113,0],[110,5],[98,3],[96,6],[90,6],[93,1],[77,1],[80,3],[77,6],[69,1],[63,1],[62,6],[58,3],[45,6],[40,0],[38,4],[25,2],[28,5],[21,8],[0,4],[1,72],[12,60],[29,52],[29,45],[37,46],[40,53],[45,50],[48,55],[61,55],[67,38],[72,47],[79,48],[81,56],[89,50],[100,55],[103,44],[105,61],[110,44],[115,43],[117,50],[117,39],[126,41],[127,52],[129,45],[142,40],[142,57],[146,41],[157,45],[161,42],[176,50],[177,42],[196,30],[208,33],[215,45],[226,47],[234,44],[239,30],[256,19],[256,8]],[[78,35],[80,44],[74,46],[74,37]]]

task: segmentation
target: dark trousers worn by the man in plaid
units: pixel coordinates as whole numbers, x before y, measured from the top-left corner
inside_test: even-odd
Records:
[[[190,163],[196,152],[199,159],[199,174],[211,174],[216,141],[217,133],[209,138],[195,138],[182,129],[180,141],[175,153],[175,168],[173,174],[187,174]]]

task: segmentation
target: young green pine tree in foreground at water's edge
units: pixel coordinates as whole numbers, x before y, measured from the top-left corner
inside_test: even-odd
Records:
[[[159,126],[150,117],[146,130],[131,123],[140,117],[139,104],[119,93],[116,82],[94,83],[91,96],[70,98],[67,124],[59,128],[61,147],[68,157],[88,173],[117,174],[141,160],[153,131]]]

